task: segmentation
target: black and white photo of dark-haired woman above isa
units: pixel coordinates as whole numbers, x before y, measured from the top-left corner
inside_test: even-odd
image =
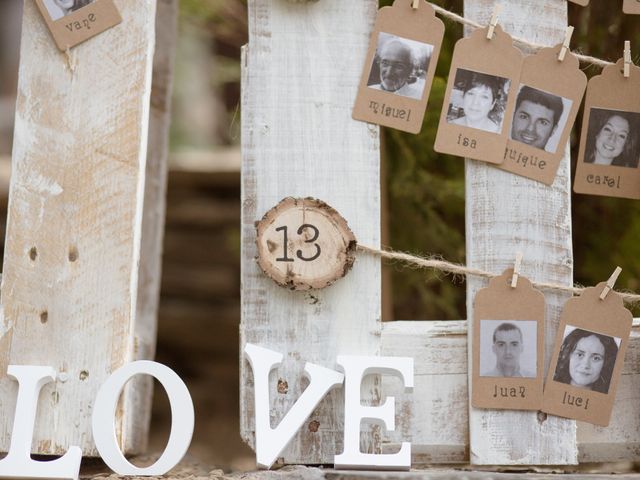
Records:
[[[447,122],[491,133],[501,133],[511,81],[458,68]]]

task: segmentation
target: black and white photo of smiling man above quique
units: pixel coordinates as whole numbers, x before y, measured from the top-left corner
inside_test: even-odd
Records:
[[[556,153],[573,101],[520,85],[511,122],[511,140]]]

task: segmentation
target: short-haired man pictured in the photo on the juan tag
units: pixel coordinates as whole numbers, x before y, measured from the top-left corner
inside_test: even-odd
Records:
[[[493,339],[491,352],[493,352],[495,356],[495,363],[491,370],[481,372],[480,376],[535,378],[535,372],[529,371],[521,366],[525,340],[522,335],[522,329],[515,325],[515,322],[500,323],[495,327],[491,338]],[[533,347],[533,351],[535,351],[535,335],[534,338],[529,339],[529,341],[533,342],[531,346]],[[489,349],[485,346],[484,350],[488,352]]]

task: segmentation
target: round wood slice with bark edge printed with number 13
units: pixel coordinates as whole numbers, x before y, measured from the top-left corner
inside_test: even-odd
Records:
[[[282,287],[321,289],[355,261],[356,238],[342,216],[314,198],[285,198],[256,223],[258,265]]]

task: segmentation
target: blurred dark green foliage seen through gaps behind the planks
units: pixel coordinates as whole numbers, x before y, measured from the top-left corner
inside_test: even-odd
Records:
[[[391,3],[382,0],[380,5]],[[462,0],[434,3],[463,12]],[[247,41],[246,1],[182,0],[180,4],[183,22],[212,33],[212,48],[225,65],[224,74],[212,82],[221,89],[227,108],[235,111],[239,102],[240,47]],[[621,0],[594,0],[589,7],[570,3],[569,23],[576,27],[573,49],[615,61],[622,56],[624,40],[640,44],[640,16],[623,15],[621,4]],[[464,263],[464,161],[433,150],[453,47],[463,35],[459,24],[444,22],[446,35],[422,132],[411,135],[382,130],[387,200],[384,222],[388,230],[385,243],[396,250],[437,254]],[[600,73],[599,67],[582,67],[588,76]],[[581,121],[579,117],[578,126]],[[572,171],[578,140],[579,128],[574,128]],[[620,265],[623,273],[618,286],[640,290],[640,241],[636,242],[640,239],[640,202],[574,195],[572,208],[576,282],[593,285],[607,279]],[[466,318],[463,279],[452,282],[434,272],[396,265],[386,268],[391,276],[393,318]],[[640,310],[634,313],[639,315]]]

